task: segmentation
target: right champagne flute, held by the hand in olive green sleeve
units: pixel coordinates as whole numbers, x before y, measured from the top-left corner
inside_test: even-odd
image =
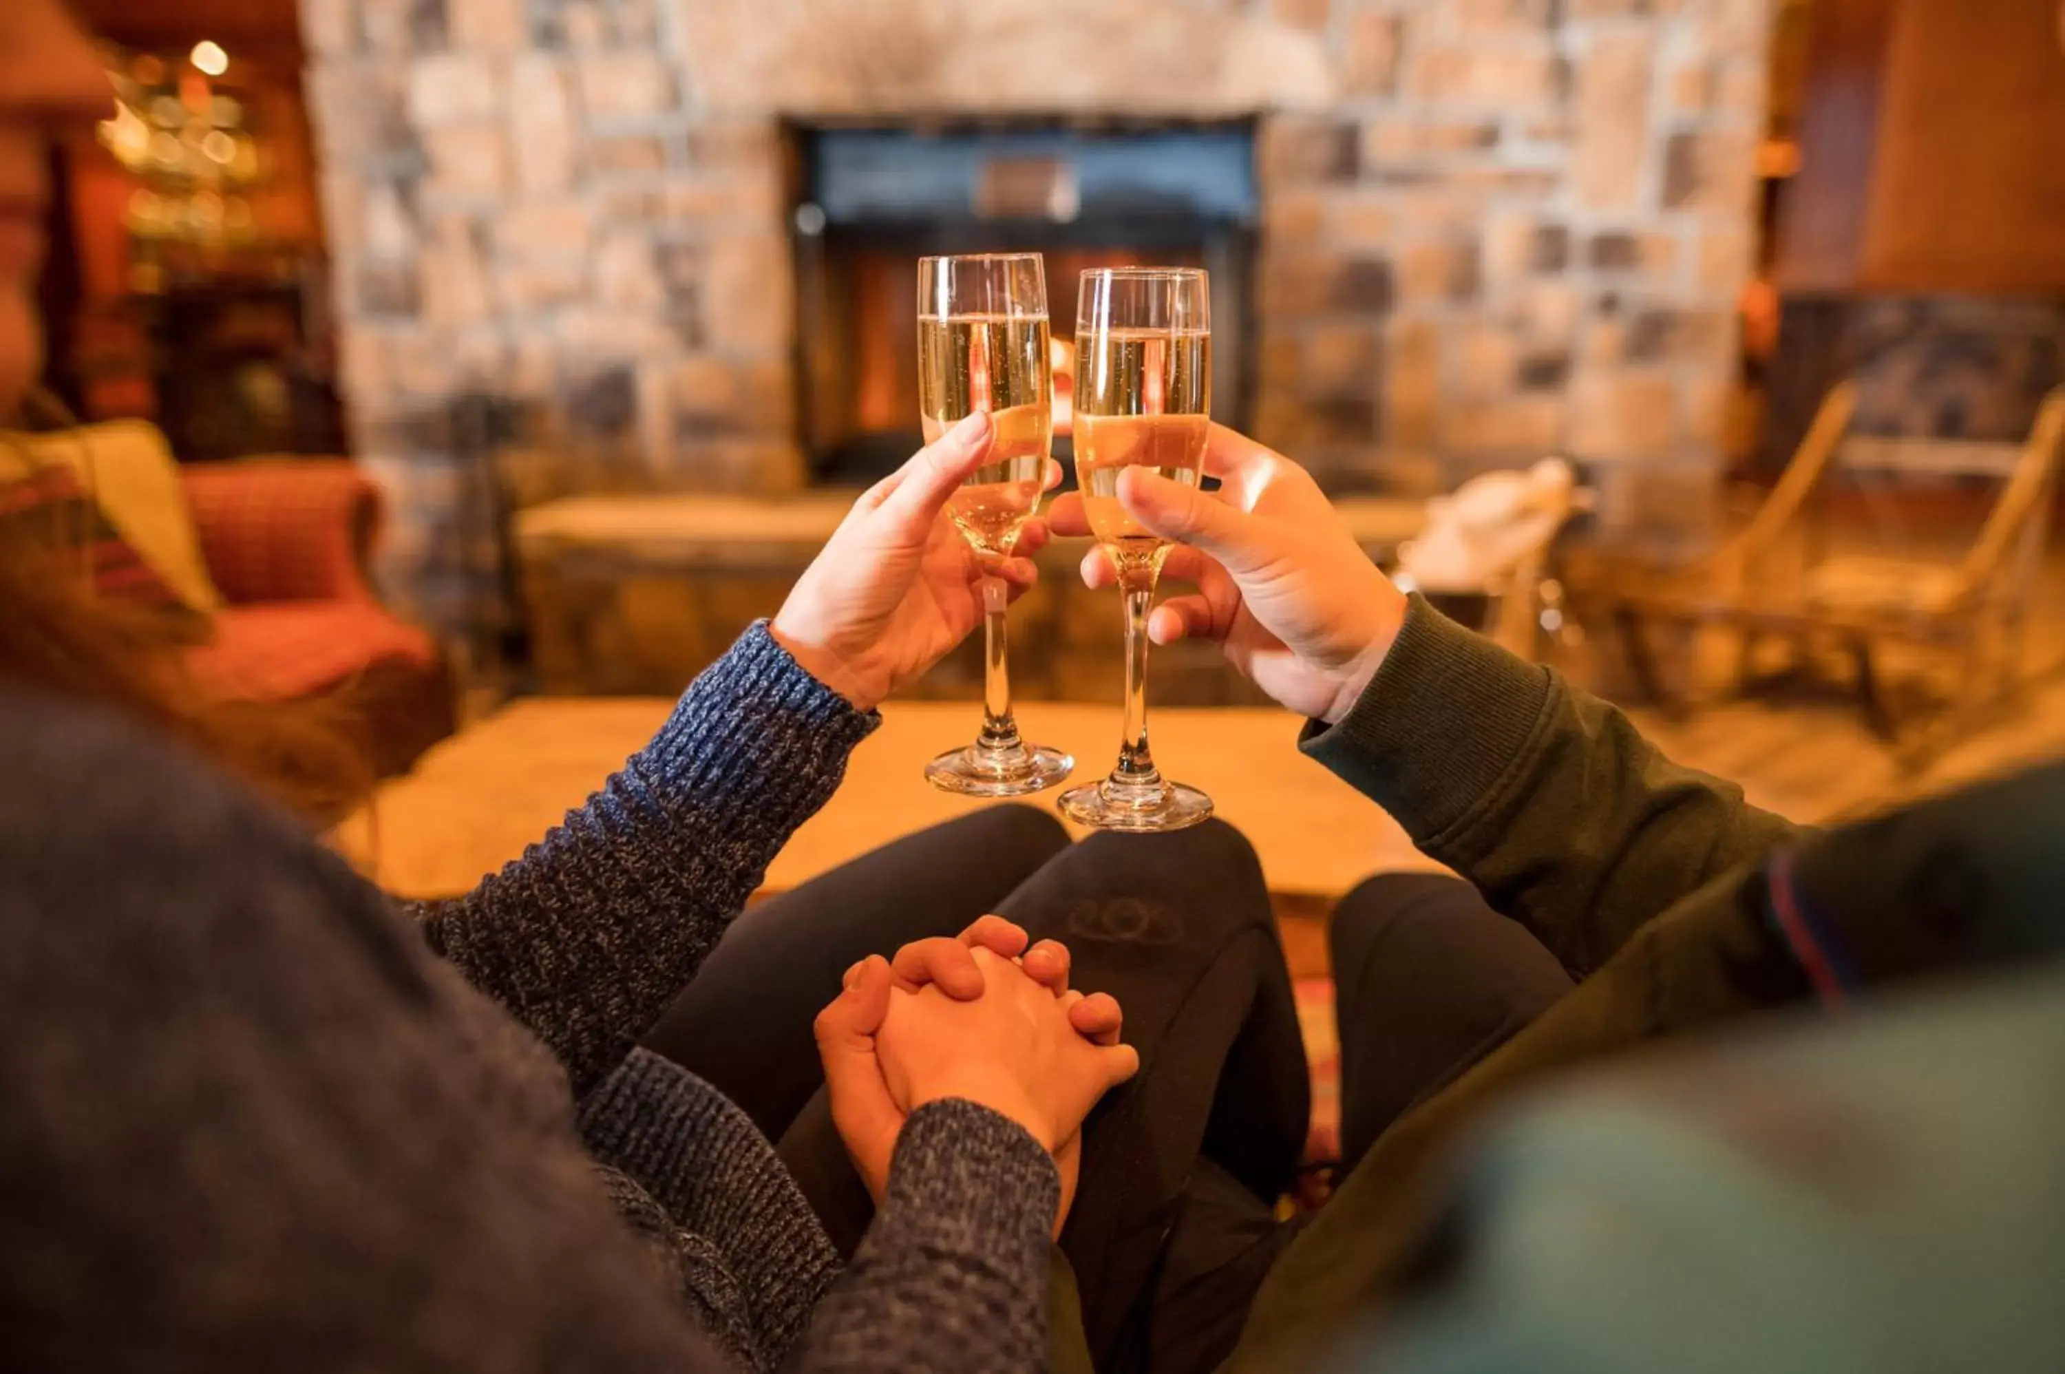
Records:
[[[1212,798],[1173,783],[1148,752],[1148,610],[1169,541],[1119,504],[1119,473],[1146,467],[1198,486],[1212,411],[1212,320],[1194,267],[1082,275],[1076,306],[1076,483],[1090,533],[1125,597],[1125,738],[1101,783],[1061,793],[1061,814],[1105,831],[1181,831]]]

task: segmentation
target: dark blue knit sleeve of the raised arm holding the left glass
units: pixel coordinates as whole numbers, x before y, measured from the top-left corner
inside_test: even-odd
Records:
[[[584,1095],[696,975],[878,723],[756,624],[580,810],[425,909],[425,934]]]

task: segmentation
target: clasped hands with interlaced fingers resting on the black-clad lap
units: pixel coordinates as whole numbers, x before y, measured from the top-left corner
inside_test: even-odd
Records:
[[[890,1157],[919,1107],[960,1097],[1022,1126],[1061,1176],[1055,1234],[1082,1161],[1082,1120],[1140,1068],[1109,994],[1068,986],[1068,948],[1032,944],[1002,915],[958,938],[869,955],[818,1014],[832,1120],[867,1192],[888,1192]]]

